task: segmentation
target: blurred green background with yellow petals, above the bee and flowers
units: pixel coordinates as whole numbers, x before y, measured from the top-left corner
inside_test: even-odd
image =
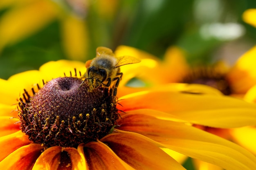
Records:
[[[255,44],[256,29],[242,20],[250,8],[255,0],[3,0],[0,78],[121,44],[160,58],[176,45],[191,64],[232,63]]]

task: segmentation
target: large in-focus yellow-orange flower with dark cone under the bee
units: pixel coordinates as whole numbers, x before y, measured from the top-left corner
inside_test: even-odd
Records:
[[[76,71],[69,73],[74,68]],[[82,82],[82,79],[78,78],[79,71],[85,72],[83,63],[60,60],[44,64],[39,71],[19,73],[8,80],[0,79],[0,169],[184,169],[172,158],[172,154],[168,150],[216,164],[227,170],[256,168],[256,157],[247,150],[190,125],[196,123],[221,128],[255,125],[256,106],[254,104],[223,96],[215,89],[206,86],[169,84],[125,96],[118,93],[115,108],[115,100],[111,99],[111,94],[108,96],[108,93],[105,93],[106,89],[88,91],[85,90],[86,84],[83,84],[80,89],[78,88]],[[63,72],[66,76],[63,76]],[[70,76],[67,76],[69,74]],[[23,90],[24,88],[31,89],[31,85],[33,90]],[[56,95],[60,95],[58,93],[64,93],[59,91],[60,86],[65,89],[65,93],[75,91],[71,95],[80,96],[80,99],[74,100],[73,96],[69,96],[66,99],[67,103],[61,104],[56,97]],[[198,87],[202,87],[202,89]],[[123,86],[120,85],[118,91],[121,88]],[[52,90],[56,94],[52,92],[50,95],[47,94],[47,91]],[[97,129],[94,129],[95,131],[99,130],[95,133],[99,136],[90,139],[87,143],[79,137],[77,139],[82,140],[81,143],[79,140],[74,140],[77,137],[74,134],[81,131],[74,131],[76,127],[73,127],[73,123],[76,120],[73,117],[78,119],[79,115],[72,115],[73,117],[70,119],[67,117],[63,120],[69,124],[63,126],[67,129],[67,133],[62,133],[62,137],[64,137],[62,139],[71,143],[75,141],[75,143],[66,145],[63,140],[58,139],[57,134],[55,134],[56,139],[48,140],[51,135],[49,130],[47,134],[49,136],[45,137],[43,137],[43,132],[38,132],[38,136],[41,138],[37,138],[36,133],[30,137],[26,135],[26,133],[33,132],[38,126],[44,127],[42,131],[56,126],[62,127],[61,119],[58,121],[57,118],[52,120],[49,117],[48,120],[43,120],[48,117],[41,119],[40,111],[56,116],[58,106],[67,105],[67,108],[62,108],[58,114],[80,109],[80,106],[85,106],[82,102],[84,96],[81,96],[80,93],[86,93],[85,95],[88,96],[89,93],[92,95],[95,93],[100,96],[88,97],[88,100],[96,98],[101,102],[107,102],[101,103],[101,105],[99,102],[91,103],[92,109],[89,109],[95,113],[99,110],[97,114],[104,113],[102,115],[107,122],[109,122],[108,116],[114,115],[112,118],[115,121],[109,122],[112,128],[110,130],[111,126],[106,128],[109,132],[105,136],[99,135],[101,132],[99,128],[104,125],[101,124],[101,120],[97,121],[99,124],[95,124]],[[19,94],[21,97],[18,98],[18,111],[15,103]],[[45,99],[44,97],[47,95],[55,97]],[[101,98],[99,99],[99,97]],[[70,102],[76,105],[71,107]],[[58,105],[59,103],[60,105]],[[110,115],[106,113],[106,117],[105,111],[108,109],[94,109],[95,104],[97,107],[110,108],[112,113]],[[51,108],[57,110],[51,113]],[[83,113],[83,117],[90,117],[89,111],[89,116]],[[240,115],[241,112],[243,115]],[[32,113],[34,113],[34,119],[30,116]],[[21,130],[20,121],[17,119],[18,115],[22,122]],[[115,119],[115,115],[120,117]],[[237,119],[238,117],[240,119]],[[31,119],[36,124],[26,125],[26,122],[32,123]],[[41,124],[38,123],[39,119]],[[98,118],[96,119],[98,120]],[[52,121],[56,121],[54,126],[50,123]],[[87,122],[89,123],[89,121]],[[70,131],[68,132],[68,130]],[[92,131],[93,129],[88,130],[89,133]],[[73,135],[69,136],[68,134]],[[32,139],[33,137],[34,139]],[[53,141],[55,142],[53,143]]]

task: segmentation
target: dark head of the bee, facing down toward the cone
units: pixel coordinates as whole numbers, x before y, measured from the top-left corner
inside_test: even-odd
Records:
[[[107,71],[105,69],[96,68],[95,66],[90,66],[87,71],[88,79],[90,79],[90,85],[97,88],[104,82],[107,78]]]

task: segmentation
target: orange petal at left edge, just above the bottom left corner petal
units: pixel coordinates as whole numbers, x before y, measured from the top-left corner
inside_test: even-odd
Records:
[[[28,136],[21,132],[21,130],[11,135],[0,137],[0,161],[14,150],[30,143],[31,141],[29,141]]]

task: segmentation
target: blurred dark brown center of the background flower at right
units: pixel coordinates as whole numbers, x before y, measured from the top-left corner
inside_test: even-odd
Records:
[[[216,69],[211,67],[192,69],[191,72],[184,77],[182,83],[204,84],[218,89],[224,95],[231,94],[231,88],[225,74],[219,73]]]

